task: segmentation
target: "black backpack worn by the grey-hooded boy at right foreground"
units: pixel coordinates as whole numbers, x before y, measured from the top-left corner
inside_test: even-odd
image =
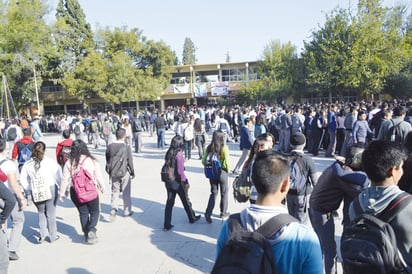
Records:
[[[378,215],[361,214],[358,198],[353,207],[358,216],[344,228],[341,238],[342,265],[345,273],[407,273],[390,222],[412,196],[401,193]]]

